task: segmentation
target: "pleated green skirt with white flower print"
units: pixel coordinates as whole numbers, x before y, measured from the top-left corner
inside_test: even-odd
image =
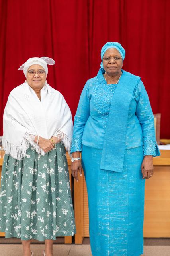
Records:
[[[23,160],[5,154],[0,188],[0,231],[22,240],[55,240],[76,232],[63,143],[45,156],[27,150]]]

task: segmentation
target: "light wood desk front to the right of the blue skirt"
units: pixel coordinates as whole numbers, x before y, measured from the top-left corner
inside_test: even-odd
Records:
[[[170,166],[154,166],[146,181],[144,237],[170,237]]]

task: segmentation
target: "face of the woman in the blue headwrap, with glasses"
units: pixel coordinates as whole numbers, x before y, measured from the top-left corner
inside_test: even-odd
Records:
[[[123,60],[120,52],[115,48],[109,48],[103,56],[103,67],[105,72],[110,76],[119,74],[122,66]]]

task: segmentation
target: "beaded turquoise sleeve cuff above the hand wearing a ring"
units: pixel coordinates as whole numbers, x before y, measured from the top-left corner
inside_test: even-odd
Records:
[[[143,155],[144,156],[160,156],[160,151],[156,140],[143,141]]]

